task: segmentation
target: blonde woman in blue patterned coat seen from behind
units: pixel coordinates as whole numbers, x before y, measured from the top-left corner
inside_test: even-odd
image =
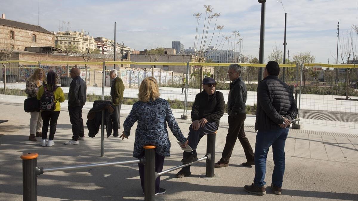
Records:
[[[155,171],[163,171],[164,157],[170,156],[170,141],[166,123],[180,143],[188,143],[182,131],[176,123],[169,103],[159,98],[159,88],[154,77],[145,78],[139,87],[139,101],[133,104],[129,116],[123,124],[122,139],[128,138],[131,127],[138,121],[135,131],[133,157],[141,158],[144,156],[145,145],[155,145]],[[139,175],[144,192],[144,165],[138,163]],[[159,187],[160,176],[155,181],[155,195],[165,193],[164,188]]]

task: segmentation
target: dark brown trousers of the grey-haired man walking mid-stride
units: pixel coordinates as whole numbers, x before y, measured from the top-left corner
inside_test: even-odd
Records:
[[[242,148],[244,149],[246,160],[253,161],[254,153],[244,131],[245,119],[246,113],[237,114],[236,117],[228,117],[229,129],[226,136],[225,147],[219,161],[220,163],[229,163],[232,149],[235,146],[237,138],[239,139]]]

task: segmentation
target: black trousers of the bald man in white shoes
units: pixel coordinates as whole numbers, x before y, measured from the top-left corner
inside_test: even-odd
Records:
[[[68,106],[69,121],[72,124],[72,140],[74,141],[77,141],[78,137],[84,136],[82,107],[83,106]]]

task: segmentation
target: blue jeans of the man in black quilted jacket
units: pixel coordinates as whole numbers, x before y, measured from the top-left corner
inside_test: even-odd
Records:
[[[289,128],[258,131],[256,135],[255,146],[255,178],[253,183],[255,186],[264,186],[266,182],[266,158],[269,147],[272,145],[272,153],[274,154],[274,172],[272,172],[272,183],[275,186],[282,186],[282,178],[285,172],[285,142]]]

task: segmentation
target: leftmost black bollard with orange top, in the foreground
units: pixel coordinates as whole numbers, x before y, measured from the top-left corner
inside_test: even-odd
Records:
[[[37,200],[37,166],[38,153],[26,153],[20,156],[23,160],[23,201]]]

